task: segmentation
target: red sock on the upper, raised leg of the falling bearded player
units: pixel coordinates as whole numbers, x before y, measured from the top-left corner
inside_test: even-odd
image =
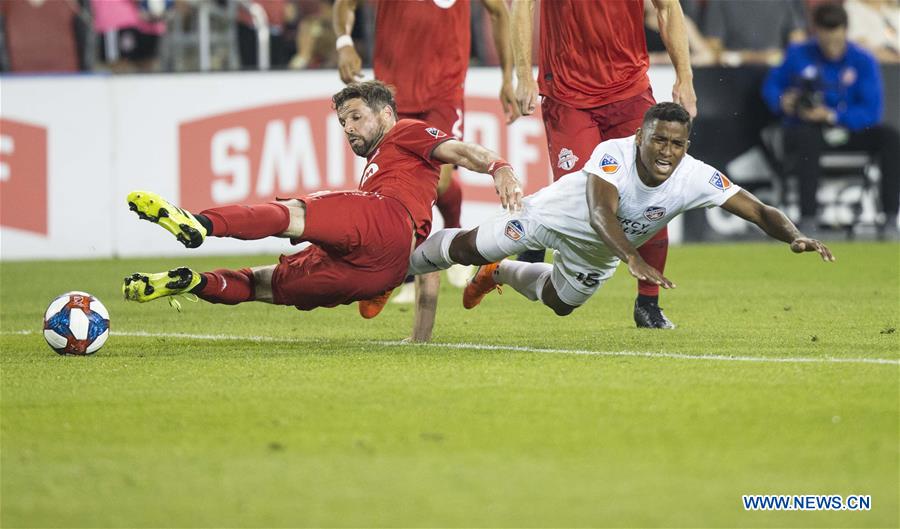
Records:
[[[280,235],[291,221],[287,206],[277,203],[254,206],[222,206],[200,212],[212,223],[216,237],[235,239],[262,239]]]

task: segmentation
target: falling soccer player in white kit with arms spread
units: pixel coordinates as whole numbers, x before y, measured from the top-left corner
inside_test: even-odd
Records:
[[[800,233],[784,213],[688,155],[690,132],[691,118],[681,105],[651,107],[634,136],[600,143],[581,171],[525,197],[522,210],[469,231],[432,234],[410,258],[410,273],[454,263],[482,265],[463,294],[466,308],[506,284],[565,316],[583,305],[620,261],[634,277],[673,288],[636,248],[679,213],[713,206],[756,224],[795,253],[818,252],[824,261],[834,261],[824,244]],[[543,248],[554,250],[553,264],[503,260]],[[417,316],[413,339],[430,336],[433,316]]]

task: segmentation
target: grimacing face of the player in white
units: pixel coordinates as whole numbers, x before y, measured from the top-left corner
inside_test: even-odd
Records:
[[[687,153],[690,132],[677,121],[655,121],[638,129],[638,175],[648,185],[666,181]]]

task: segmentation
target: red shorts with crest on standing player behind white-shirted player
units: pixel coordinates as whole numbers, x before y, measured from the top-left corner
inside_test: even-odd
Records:
[[[541,113],[547,131],[553,180],[581,169],[600,142],[634,134],[641,126],[644,112],[655,104],[651,88],[597,108],[572,108],[544,97]]]

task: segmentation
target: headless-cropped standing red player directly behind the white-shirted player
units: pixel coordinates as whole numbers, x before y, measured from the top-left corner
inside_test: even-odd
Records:
[[[678,0],[653,0],[666,50],[675,66],[672,99],[697,114],[684,14]],[[643,0],[553,0],[541,2],[538,82],[531,66],[533,0],[513,2],[513,52],[522,114],[541,113],[554,180],[581,169],[604,140],[630,136],[655,104],[644,37]],[[663,229],[638,249],[659,271],[669,247]],[[522,258],[522,257],[520,257]],[[525,256],[543,260],[543,252]],[[674,328],[659,308],[659,286],[638,282],[634,319],[638,327]]]

